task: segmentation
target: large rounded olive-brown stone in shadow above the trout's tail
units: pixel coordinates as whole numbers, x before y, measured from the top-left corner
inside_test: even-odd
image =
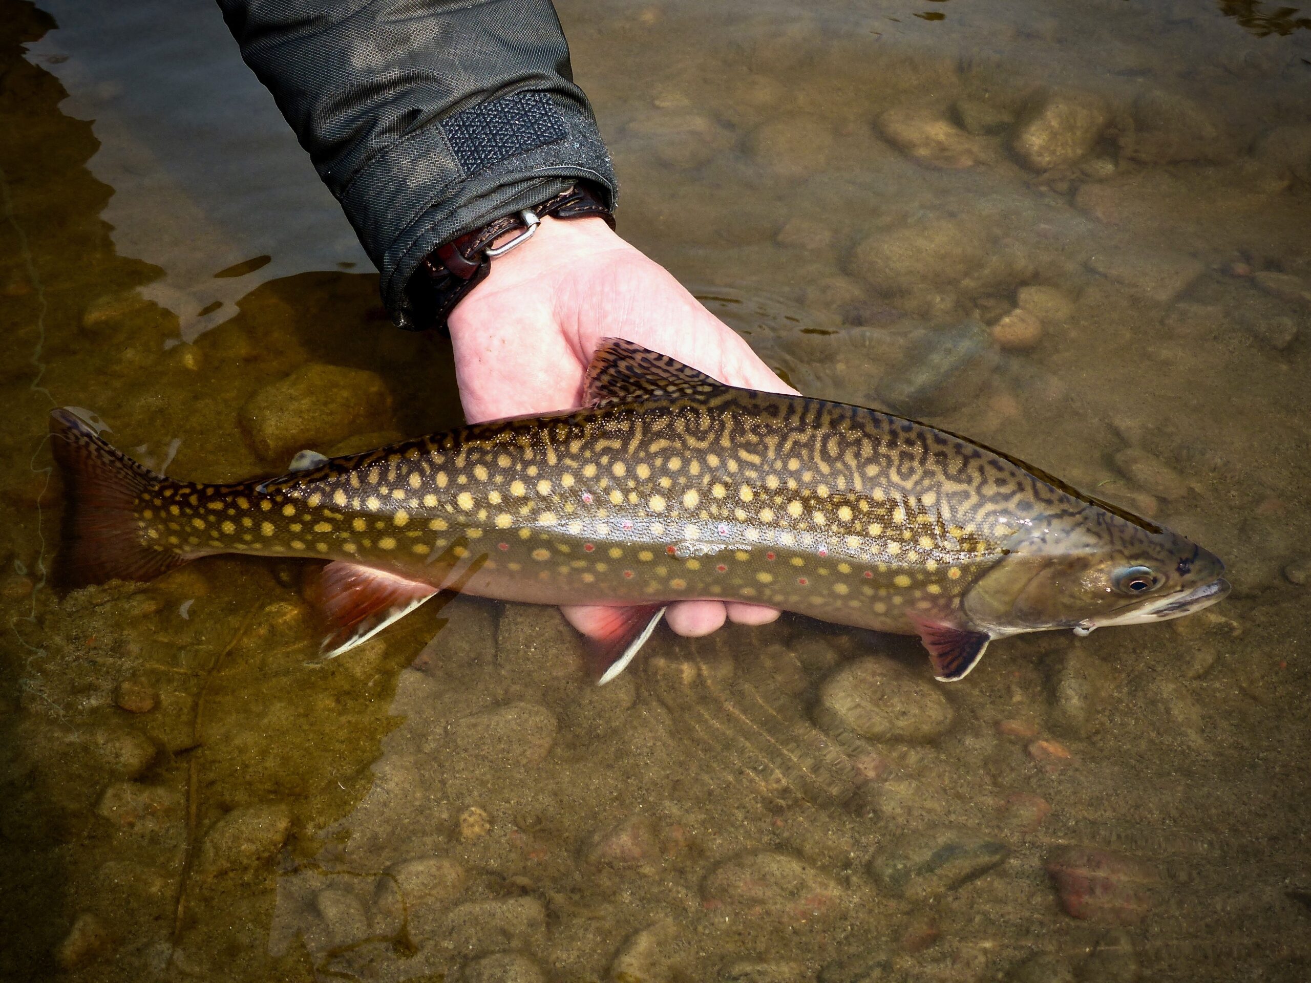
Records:
[[[312,363],[254,393],[240,421],[256,453],[284,467],[298,451],[387,429],[391,410],[391,393],[378,374]]]

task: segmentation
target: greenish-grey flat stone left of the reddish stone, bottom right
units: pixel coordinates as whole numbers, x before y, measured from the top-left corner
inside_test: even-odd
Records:
[[[1009,855],[1004,843],[964,830],[937,830],[886,847],[871,861],[869,873],[893,894],[928,900],[982,877]]]

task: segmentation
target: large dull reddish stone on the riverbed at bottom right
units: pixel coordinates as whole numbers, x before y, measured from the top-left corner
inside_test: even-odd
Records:
[[[1113,924],[1142,920],[1155,877],[1139,861],[1110,851],[1062,847],[1046,862],[1067,915]]]

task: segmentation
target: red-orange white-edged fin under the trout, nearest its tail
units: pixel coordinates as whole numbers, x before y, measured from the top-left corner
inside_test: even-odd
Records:
[[[430,583],[357,564],[326,564],[305,590],[328,628],[319,653],[330,659],[354,649],[434,594],[437,587]]]

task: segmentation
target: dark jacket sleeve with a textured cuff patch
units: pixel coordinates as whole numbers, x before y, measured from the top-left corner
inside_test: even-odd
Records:
[[[551,0],[218,0],[404,318],[435,246],[587,180],[610,155]]]

